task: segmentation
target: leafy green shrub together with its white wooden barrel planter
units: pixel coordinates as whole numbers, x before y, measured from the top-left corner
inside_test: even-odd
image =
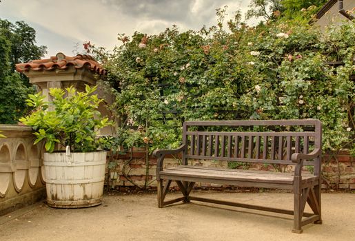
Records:
[[[66,91],[65,91],[66,90]],[[97,87],[86,85],[85,92],[69,87],[50,89],[52,102],[43,94],[30,94],[27,105],[32,113],[20,121],[32,126],[37,139],[45,141],[43,154],[47,203],[51,207],[77,208],[101,204],[105,180],[105,151],[110,138],[98,138],[97,132],[110,125],[97,111],[101,99],[93,94]],[[54,151],[56,144],[66,151]],[[70,151],[69,151],[70,147]]]

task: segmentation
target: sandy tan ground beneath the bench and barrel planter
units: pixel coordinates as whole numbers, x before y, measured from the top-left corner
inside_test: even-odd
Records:
[[[269,192],[197,195],[285,209],[292,209],[293,198]],[[88,209],[37,205],[0,224],[0,240],[354,240],[355,194],[324,193],[322,205],[323,224],[309,224],[299,235],[291,232],[292,216],[201,202],[158,209],[155,194],[114,195]]]

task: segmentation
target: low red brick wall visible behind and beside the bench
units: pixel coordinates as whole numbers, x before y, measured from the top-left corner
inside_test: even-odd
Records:
[[[134,186],[132,182],[141,187],[145,184],[146,178],[146,163],[145,152],[134,151],[132,154],[132,160],[130,155],[118,156],[117,167],[111,170],[110,177],[112,178],[112,187],[129,187]],[[225,167],[227,168],[227,162],[213,161],[213,160],[189,160],[190,165],[203,165],[205,167]],[[168,156],[164,160],[164,167],[172,167],[177,165],[179,160]],[[337,155],[325,154],[322,160],[323,169],[323,188],[324,189],[355,189],[355,158],[349,155],[348,151],[341,151]],[[148,186],[156,187],[156,158],[150,156],[149,160],[149,174],[148,174]],[[292,171],[293,166],[287,167],[285,171]],[[271,166],[265,167],[265,165],[252,165],[250,169],[263,169],[272,170]],[[305,169],[306,171],[306,169]],[[127,176],[132,182],[130,182],[125,176]],[[211,184],[199,184],[202,187],[221,187],[221,185]],[[172,183],[174,186],[174,182]]]

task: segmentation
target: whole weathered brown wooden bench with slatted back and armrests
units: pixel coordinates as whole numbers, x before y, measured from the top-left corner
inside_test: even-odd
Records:
[[[321,122],[318,120],[284,121],[187,121],[183,124],[183,144],[177,149],[157,149],[158,206],[174,202],[212,202],[294,216],[294,233],[312,222],[321,224]],[[163,169],[165,155],[181,154],[182,165]],[[228,162],[263,163],[274,167],[292,165],[294,171],[252,171],[217,169],[188,165],[188,160],[223,160]],[[191,162],[190,162],[191,163]],[[303,173],[305,165],[313,174]],[[181,198],[164,201],[175,181],[183,193]],[[195,182],[290,189],[294,193],[294,209],[285,210],[250,204],[212,200],[190,196]],[[313,213],[305,213],[308,203]]]

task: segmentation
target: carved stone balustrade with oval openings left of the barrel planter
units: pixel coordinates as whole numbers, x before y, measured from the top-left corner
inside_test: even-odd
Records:
[[[33,145],[31,127],[0,125],[0,216],[45,198],[41,181],[41,145]]]

